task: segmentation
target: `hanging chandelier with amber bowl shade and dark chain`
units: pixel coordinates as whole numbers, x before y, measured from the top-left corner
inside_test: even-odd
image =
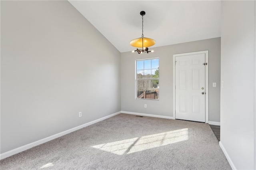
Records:
[[[146,38],[143,35],[143,16],[145,14],[146,14],[145,11],[140,12],[140,15],[142,16],[142,36],[140,38],[136,38],[130,42],[130,45],[132,45],[133,47],[138,47],[138,48],[142,48],[142,49],[137,48],[136,50],[132,51],[133,53],[135,51],[137,51],[139,54],[144,53],[144,52],[146,52],[146,53],[154,52],[154,50],[148,51],[148,47],[155,45],[156,41],[151,38]]]

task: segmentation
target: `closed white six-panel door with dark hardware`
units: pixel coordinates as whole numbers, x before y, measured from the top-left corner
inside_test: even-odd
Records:
[[[205,122],[205,53],[175,57],[176,119]]]

